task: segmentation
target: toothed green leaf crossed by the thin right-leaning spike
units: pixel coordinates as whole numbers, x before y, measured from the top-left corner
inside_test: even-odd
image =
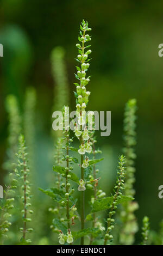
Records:
[[[121,199],[117,199],[117,204],[122,204],[129,200],[134,200],[134,198],[128,197],[128,196],[122,196]],[[107,210],[110,208],[110,205],[112,204],[112,202],[113,202],[113,197],[105,197],[105,198],[96,200],[95,203],[93,203],[91,212]]]

